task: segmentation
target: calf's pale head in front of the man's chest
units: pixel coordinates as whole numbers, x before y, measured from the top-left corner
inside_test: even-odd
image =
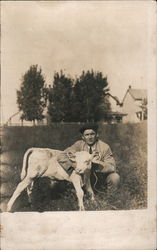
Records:
[[[76,173],[83,174],[87,169],[91,169],[94,154],[89,154],[86,151],[68,152],[67,154],[69,159],[76,164]]]

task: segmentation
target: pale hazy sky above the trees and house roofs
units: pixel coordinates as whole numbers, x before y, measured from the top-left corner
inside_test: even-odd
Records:
[[[151,13],[147,1],[2,1],[2,122],[18,111],[16,90],[33,64],[47,85],[55,71],[93,69],[120,100],[129,85],[147,89]]]

